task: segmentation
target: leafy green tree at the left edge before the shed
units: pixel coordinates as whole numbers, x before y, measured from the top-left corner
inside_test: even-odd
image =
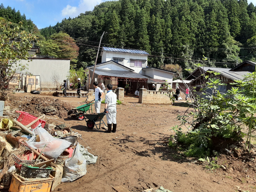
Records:
[[[0,99],[5,100],[7,93],[5,88],[15,78],[15,73],[26,69],[26,65],[19,60],[28,60],[28,50],[33,43],[40,45],[38,37],[21,30],[22,25],[13,26],[0,18]]]

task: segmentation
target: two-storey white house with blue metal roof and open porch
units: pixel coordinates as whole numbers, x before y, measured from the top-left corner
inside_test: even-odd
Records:
[[[131,92],[138,88],[151,89],[152,84],[159,84],[160,87],[165,81],[172,84],[174,72],[147,66],[149,53],[141,50],[103,47],[100,53],[102,63],[96,65],[93,81],[105,85],[111,83],[113,88],[125,87],[128,82],[131,85]],[[93,75],[94,65],[88,66],[88,79]],[[87,86],[90,89],[93,87]]]

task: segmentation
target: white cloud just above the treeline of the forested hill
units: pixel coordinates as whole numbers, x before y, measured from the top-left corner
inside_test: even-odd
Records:
[[[69,4],[62,10],[62,16],[76,17],[80,13],[93,10],[94,6],[100,4],[103,0],[80,0],[78,7],[70,6]]]

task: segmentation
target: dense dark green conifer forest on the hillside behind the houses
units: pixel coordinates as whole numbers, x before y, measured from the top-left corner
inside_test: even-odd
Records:
[[[149,65],[163,67],[209,59],[207,66],[232,67],[256,60],[256,7],[247,0],[119,0],[92,12],[63,19],[41,31],[66,32],[79,45],[79,64],[93,63],[103,31],[103,46],[148,51]],[[157,56],[157,57],[155,57]]]

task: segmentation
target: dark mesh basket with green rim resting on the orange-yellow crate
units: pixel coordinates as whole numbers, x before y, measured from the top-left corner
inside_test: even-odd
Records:
[[[52,169],[40,169],[22,165],[21,176],[25,178],[47,178]]]

